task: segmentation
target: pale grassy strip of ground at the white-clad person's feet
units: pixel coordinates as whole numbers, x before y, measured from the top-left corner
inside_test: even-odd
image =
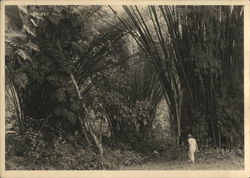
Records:
[[[230,158],[197,158],[195,164],[186,160],[168,161],[163,157],[151,159],[144,164],[122,167],[122,170],[242,170],[244,159],[241,156]]]

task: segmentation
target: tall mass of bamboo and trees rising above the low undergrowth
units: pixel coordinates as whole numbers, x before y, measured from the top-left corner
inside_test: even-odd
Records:
[[[204,145],[242,147],[243,14],[240,6],[6,6],[6,95],[19,134],[74,133],[102,159],[103,144],[150,139],[165,100],[177,145],[193,133]]]

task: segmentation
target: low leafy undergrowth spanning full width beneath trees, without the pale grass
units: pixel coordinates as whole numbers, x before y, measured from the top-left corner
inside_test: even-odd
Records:
[[[118,170],[124,168],[148,169],[143,165],[186,164],[187,146],[176,148],[172,143],[147,142],[134,145],[104,145],[104,155],[100,163],[99,155],[93,146],[72,144],[72,142],[55,137],[48,142],[39,132],[29,130],[22,136],[9,134],[6,137],[7,170]],[[111,149],[112,148],[112,149]],[[242,149],[202,148],[196,153],[197,162],[229,164],[243,162]],[[173,166],[170,164],[169,166]],[[243,164],[243,163],[242,163]],[[216,165],[216,164],[215,164]],[[213,168],[213,167],[212,167]],[[211,169],[212,169],[211,168]],[[161,169],[160,166],[154,169]],[[166,169],[166,168],[162,168]],[[171,168],[170,168],[171,169]]]

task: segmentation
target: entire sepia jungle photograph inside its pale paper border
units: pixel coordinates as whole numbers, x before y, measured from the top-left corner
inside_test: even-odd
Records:
[[[6,171],[245,169],[244,6],[4,10]]]

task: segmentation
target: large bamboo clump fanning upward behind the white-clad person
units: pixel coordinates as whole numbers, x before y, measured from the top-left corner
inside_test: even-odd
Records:
[[[124,6],[124,10],[131,21],[118,18],[132,29],[131,35],[155,66],[176,123],[177,143],[189,129],[199,134],[205,129],[219,147],[222,139],[233,143],[242,137],[243,125],[225,124],[225,120],[243,119],[243,93],[239,94],[243,90],[243,51],[239,50],[243,31],[238,29],[243,24],[242,7],[151,6],[149,19],[136,6]],[[238,109],[240,115],[229,113]],[[194,129],[202,119],[208,128]],[[228,137],[228,133],[237,136]]]

